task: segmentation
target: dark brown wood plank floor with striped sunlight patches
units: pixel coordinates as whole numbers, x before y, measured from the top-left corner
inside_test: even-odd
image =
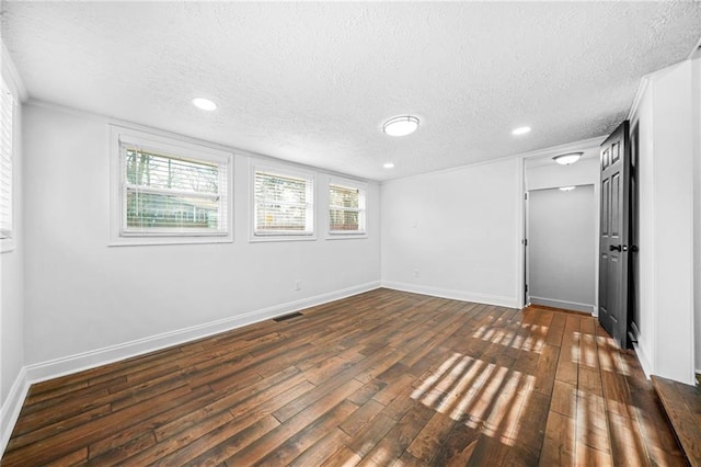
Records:
[[[683,466],[586,316],[377,289],[30,389],[2,466]]]

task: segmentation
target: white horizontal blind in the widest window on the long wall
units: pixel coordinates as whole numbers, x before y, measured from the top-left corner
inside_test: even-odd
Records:
[[[227,164],[120,145],[125,236],[226,235]]]

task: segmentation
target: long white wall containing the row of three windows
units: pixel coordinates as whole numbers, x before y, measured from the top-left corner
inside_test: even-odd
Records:
[[[233,243],[107,247],[106,119],[34,103],[24,130],[25,349],[35,377],[379,286],[376,183],[367,239],[250,243],[251,156],[237,153]]]

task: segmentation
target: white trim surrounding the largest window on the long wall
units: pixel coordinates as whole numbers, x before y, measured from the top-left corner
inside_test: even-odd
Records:
[[[111,158],[111,247],[140,244],[186,244],[186,243],[230,243],[233,241],[233,155],[223,150],[187,143],[173,137],[165,137],[134,128],[110,125],[110,158]],[[124,170],[122,167],[123,143],[135,144],[148,149],[163,151],[199,160],[211,160],[225,163],[227,198],[227,219],[223,232],[122,232],[125,191],[123,186]]]

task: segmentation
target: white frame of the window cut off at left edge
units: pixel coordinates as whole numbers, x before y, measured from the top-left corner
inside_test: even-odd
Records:
[[[8,99],[10,101],[10,153],[9,159],[9,174],[3,171],[3,175],[8,176],[9,184],[9,209],[8,213],[8,227],[2,229],[0,225],[0,253],[13,251],[16,247],[16,124],[18,124],[18,95],[12,88],[12,82],[8,82],[4,76],[0,77],[2,83],[0,84],[0,92],[4,94],[2,100]],[[5,98],[7,96],[7,98]],[[4,112],[4,109],[0,109],[0,112]]]

